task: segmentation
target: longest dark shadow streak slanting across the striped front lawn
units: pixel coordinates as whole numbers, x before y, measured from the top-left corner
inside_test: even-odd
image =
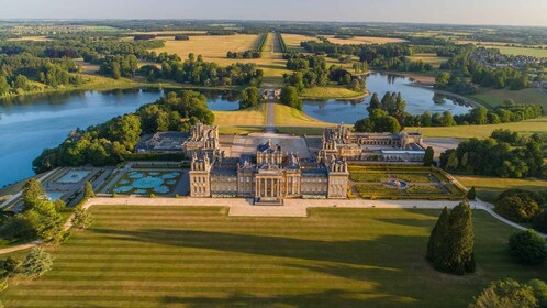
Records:
[[[423,242],[425,244],[427,241],[423,237],[410,235],[390,235],[375,240],[317,241],[172,229],[112,230],[93,228],[91,231],[107,234],[108,238],[120,241],[337,262],[350,265],[364,265],[372,262],[380,267],[399,267],[401,265],[400,260],[389,257],[400,252],[399,245],[409,242]]]

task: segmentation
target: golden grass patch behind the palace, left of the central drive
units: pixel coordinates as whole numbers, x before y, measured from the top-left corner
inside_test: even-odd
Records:
[[[213,111],[214,124],[223,134],[261,132],[266,125],[266,105],[245,110]]]

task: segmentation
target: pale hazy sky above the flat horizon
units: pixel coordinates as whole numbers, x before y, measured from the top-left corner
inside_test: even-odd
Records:
[[[0,19],[220,19],[547,26],[547,0],[0,0]]]

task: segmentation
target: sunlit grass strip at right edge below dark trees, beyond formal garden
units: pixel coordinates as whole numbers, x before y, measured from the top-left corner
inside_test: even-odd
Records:
[[[493,202],[503,190],[510,188],[547,191],[547,180],[538,178],[498,178],[478,175],[456,176],[456,178],[467,188],[475,186],[477,196],[489,202]]]

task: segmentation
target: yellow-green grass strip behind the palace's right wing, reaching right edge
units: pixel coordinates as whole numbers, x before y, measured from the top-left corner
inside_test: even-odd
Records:
[[[520,133],[545,133],[547,132],[547,117],[502,124],[458,125],[446,128],[405,128],[405,131],[418,131],[423,133],[424,138],[484,139],[490,136],[496,129],[507,129]]]

